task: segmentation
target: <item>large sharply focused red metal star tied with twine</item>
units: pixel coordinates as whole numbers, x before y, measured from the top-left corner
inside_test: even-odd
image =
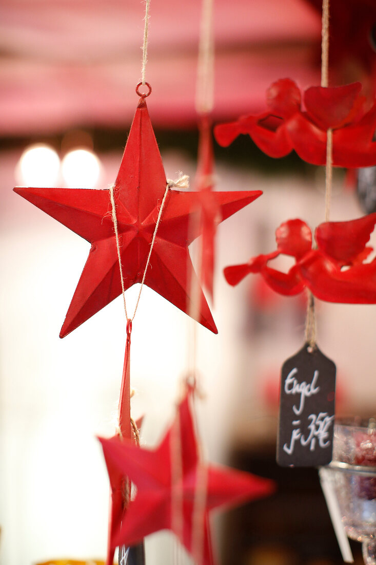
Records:
[[[113,190],[125,290],[142,281],[166,186],[145,97],[141,97]],[[64,337],[121,294],[110,190],[20,186],[14,190],[91,244],[60,332]],[[222,220],[261,194],[259,190],[216,193]],[[189,229],[189,220],[198,207],[199,193],[169,190],[145,279],[147,286],[187,313],[194,272],[188,246],[200,235],[199,228]],[[197,320],[217,333],[202,291]]]

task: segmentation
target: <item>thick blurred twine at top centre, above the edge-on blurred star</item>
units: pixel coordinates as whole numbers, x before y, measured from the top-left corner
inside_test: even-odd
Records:
[[[214,105],[213,0],[202,3],[195,105],[198,114],[208,114]]]

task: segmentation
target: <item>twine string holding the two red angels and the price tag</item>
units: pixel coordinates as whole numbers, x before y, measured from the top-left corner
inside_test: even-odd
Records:
[[[321,23],[321,86],[329,84],[329,0],[322,2]],[[329,221],[331,185],[333,180],[333,131],[326,132],[326,166],[325,166],[325,221]],[[307,317],[305,319],[305,341],[314,348],[316,346],[316,316],[314,298],[311,290],[307,290]]]

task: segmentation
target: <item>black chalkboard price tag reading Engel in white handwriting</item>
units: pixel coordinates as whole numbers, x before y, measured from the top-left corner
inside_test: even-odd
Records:
[[[335,364],[318,347],[304,347],[282,367],[277,463],[316,467],[333,449]]]

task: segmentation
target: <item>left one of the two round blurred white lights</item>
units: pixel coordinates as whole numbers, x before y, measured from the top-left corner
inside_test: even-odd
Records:
[[[23,186],[55,186],[60,159],[48,145],[30,145],[16,166],[16,181]]]

